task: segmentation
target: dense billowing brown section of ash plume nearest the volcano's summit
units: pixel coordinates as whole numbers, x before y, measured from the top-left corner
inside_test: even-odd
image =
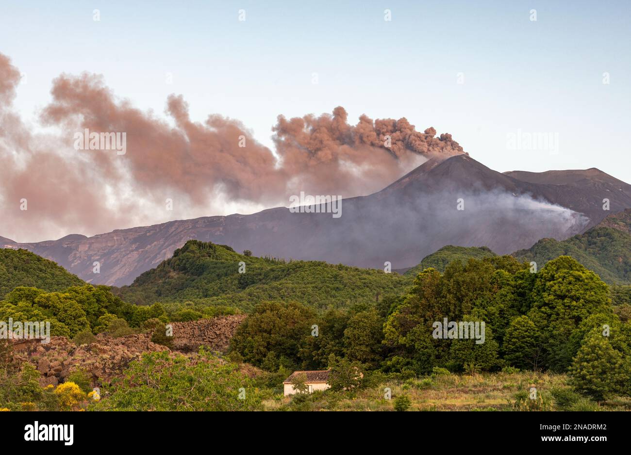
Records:
[[[378,191],[428,158],[464,153],[451,134],[436,138],[431,127],[418,132],[406,118],[373,122],[362,115],[350,125],[343,107],[320,117],[279,115],[273,131],[292,187],[344,197]]]

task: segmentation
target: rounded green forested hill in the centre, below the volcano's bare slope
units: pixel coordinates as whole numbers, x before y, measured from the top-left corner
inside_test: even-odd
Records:
[[[239,273],[242,266],[244,273]],[[295,300],[322,309],[375,302],[403,292],[410,283],[382,270],[257,258],[239,255],[229,246],[191,240],[172,258],[113,292],[136,304],[192,301],[249,311],[262,301]]]

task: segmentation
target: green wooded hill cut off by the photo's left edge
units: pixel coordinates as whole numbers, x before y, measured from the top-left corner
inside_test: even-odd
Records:
[[[0,300],[18,286],[53,292],[84,284],[63,267],[30,251],[0,249]]]

